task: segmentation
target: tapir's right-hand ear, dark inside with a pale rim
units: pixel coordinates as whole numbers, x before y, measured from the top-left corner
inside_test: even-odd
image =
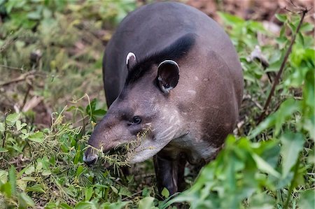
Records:
[[[165,60],[158,66],[158,86],[168,94],[179,82],[179,65],[173,60]]]

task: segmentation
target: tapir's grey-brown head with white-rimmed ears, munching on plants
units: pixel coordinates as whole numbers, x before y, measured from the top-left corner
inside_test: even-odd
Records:
[[[170,59],[140,64],[132,52],[126,64],[126,85],[88,141],[91,147],[83,157],[87,164],[97,160],[94,150],[107,152],[132,141],[136,145],[127,150],[127,160],[144,161],[179,137],[181,117],[171,99],[179,82],[179,65]]]

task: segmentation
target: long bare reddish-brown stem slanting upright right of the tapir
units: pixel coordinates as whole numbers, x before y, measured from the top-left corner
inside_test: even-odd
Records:
[[[274,89],[276,89],[276,85],[278,85],[278,83],[279,83],[279,80],[280,80],[280,77],[281,77],[281,73],[282,73],[282,71],[283,71],[283,69],[284,69],[284,66],[285,66],[285,64],[286,64],[286,61],[288,60],[288,56],[290,55],[290,52],[291,52],[291,50],[292,50],[292,46],[293,46],[293,43],[295,42],[296,35],[297,35],[298,32],[300,31],[300,27],[301,27],[301,25],[302,25],[302,22],[303,22],[303,20],[304,20],[304,17],[305,17],[305,15],[306,15],[306,13],[309,12],[309,10],[308,10],[307,8],[304,8],[304,9],[301,10],[301,12],[302,12],[301,20],[300,20],[299,24],[297,25],[297,29],[295,30],[295,34],[293,34],[291,43],[290,43],[290,45],[289,45],[289,47],[288,47],[288,50],[286,51],[286,55],[284,56],[284,59],[283,59],[283,61],[282,61],[282,63],[281,63],[279,72],[276,74],[276,78],[274,78],[274,83],[273,83],[273,85],[272,85],[272,89],[270,90],[269,96],[268,96],[267,101],[266,101],[266,103],[265,103],[264,109],[263,109],[263,111],[262,111],[260,117],[258,118],[257,124],[259,124],[260,122],[262,122],[262,120],[263,120],[263,119],[265,118],[265,116],[266,116],[267,108],[269,107],[269,103],[270,103],[270,101],[271,101],[271,99],[272,99],[272,96],[274,95]]]

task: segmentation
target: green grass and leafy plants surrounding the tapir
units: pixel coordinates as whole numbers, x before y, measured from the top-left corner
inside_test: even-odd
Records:
[[[186,178],[185,192],[169,197],[164,190],[165,201],[156,199],[150,160],[132,166],[127,177],[116,155],[103,157],[109,167],[83,164],[87,139],[106,113],[103,44],[136,7],[134,1],[0,1],[0,14],[7,13],[0,27],[0,207],[314,208],[313,25],[302,24],[268,116],[257,125],[272,86],[267,72],[274,80],[300,15],[277,15],[283,26],[272,34],[260,22],[220,13],[244,69],[241,117],[216,160],[196,180]],[[267,69],[248,59],[255,45]],[[34,102],[36,108],[22,111]],[[49,126],[39,120],[50,116]]]

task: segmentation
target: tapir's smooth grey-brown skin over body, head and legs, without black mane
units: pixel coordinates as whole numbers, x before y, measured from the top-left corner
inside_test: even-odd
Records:
[[[159,75],[158,64],[153,64],[139,80],[125,85],[131,66],[188,33],[196,35],[195,43],[170,69],[179,70],[177,84],[165,85],[174,73]],[[135,57],[127,57],[129,52]],[[138,163],[154,157],[160,190],[166,187],[174,194],[183,189],[186,161],[203,166],[214,159],[235,127],[243,94],[239,57],[223,29],[195,8],[153,3],[127,15],[106,46],[103,73],[110,107],[88,144],[107,151],[149,130],[127,159]],[[162,85],[155,85],[157,76]],[[130,124],[135,115],[140,124]],[[88,148],[83,160],[92,164],[96,159]]]

